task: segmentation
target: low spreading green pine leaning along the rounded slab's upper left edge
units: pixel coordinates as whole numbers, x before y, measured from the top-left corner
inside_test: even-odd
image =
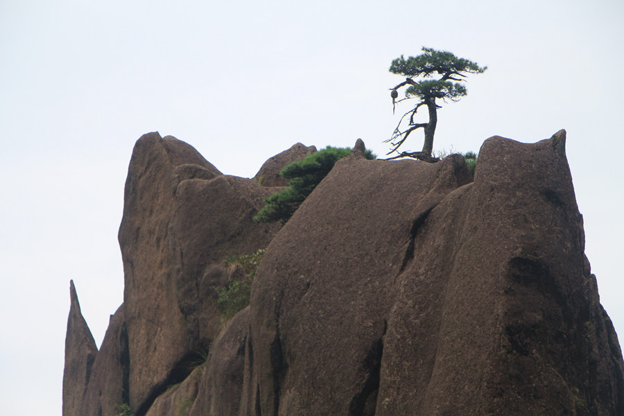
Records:
[[[307,155],[302,160],[288,164],[279,173],[282,177],[290,180],[288,188],[274,193],[266,198],[266,205],[254,216],[257,223],[286,223],[295,213],[297,208],[312,193],[315,187],[331,171],[338,159],[351,154],[350,148],[326,148]],[[366,158],[374,159],[376,155],[371,150],[366,150]]]

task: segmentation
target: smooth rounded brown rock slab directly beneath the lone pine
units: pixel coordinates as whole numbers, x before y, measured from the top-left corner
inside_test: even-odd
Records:
[[[411,232],[471,180],[439,164],[341,159],[269,245],[252,291],[263,415],[374,408],[394,281]]]

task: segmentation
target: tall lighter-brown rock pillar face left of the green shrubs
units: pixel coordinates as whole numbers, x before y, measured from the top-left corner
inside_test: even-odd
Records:
[[[135,411],[191,347],[184,315],[177,306],[168,231],[180,182],[174,172],[189,164],[220,175],[191,146],[172,137],[162,139],[158,133],[137,141],[128,167],[119,245],[132,357],[130,406]]]

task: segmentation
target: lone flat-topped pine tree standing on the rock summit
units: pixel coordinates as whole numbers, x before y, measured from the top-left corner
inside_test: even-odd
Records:
[[[462,96],[467,94],[466,87],[460,82],[463,81],[466,75],[465,73],[483,73],[487,67],[479,67],[476,62],[467,60],[465,58],[458,58],[456,55],[448,51],[436,51],[435,49],[426,48],[423,46],[423,53],[418,56],[410,56],[405,59],[403,55],[401,58],[396,58],[390,65],[390,72],[397,75],[406,76],[406,80],[390,88],[390,96],[392,97],[392,112],[395,110],[395,105],[401,101],[418,98],[419,103],[412,109],[406,112],[399,120],[399,124],[395,131],[392,133],[390,139],[385,140],[385,143],[390,142],[392,144],[393,152],[399,153],[398,156],[390,157],[390,159],[396,159],[397,157],[414,157],[416,159],[424,160],[426,162],[435,162],[437,158],[431,155],[433,151],[433,134],[435,133],[435,125],[437,125],[437,109],[441,108],[435,102],[436,98],[441,99],[444,103],[447,102],[447,98],[451,101],[459,101]],[[412,78],[422,77],[424,79],[415,81]],[[428,78],[438,79],[428,79]],[[458,78],[460,77],[460,78]],[[452,81],[460,81],[453,83]],[[408,85],[405,96],[397,101],[399,88]],[[420,107],[427,106],[429,113],[429,121],[427,123],[415,123],[414,116]],[[408,120],[408,125],[404,127],[404,120]],[[404,130],[401,130],[404,128]],[[417,128],[424,130],[424,144],[422,151],[420,152],[399,152],[397,150],[410,133]]]

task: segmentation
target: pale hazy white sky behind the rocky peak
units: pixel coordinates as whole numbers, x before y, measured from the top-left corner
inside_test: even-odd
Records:
[[[98,345],[121,304],[142,134],[243,177],[297,141],[384,155],[390,61],[421,46],[489,68],[438,113],[435,149],[567,130],[587,256],[624,334],[623,20],[621,0],[0,0],[0,414],[60,416],[69,279]]]

